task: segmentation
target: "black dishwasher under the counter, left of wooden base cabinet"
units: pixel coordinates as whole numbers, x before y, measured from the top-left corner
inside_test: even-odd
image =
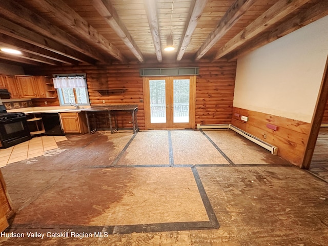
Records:
[[[42,122],[45,127],[45,135],[48,136],[62,136],[59,113],[42,113]]]

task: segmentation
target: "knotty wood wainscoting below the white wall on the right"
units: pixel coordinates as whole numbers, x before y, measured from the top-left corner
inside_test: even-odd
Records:
[[[247,122],[241,120],[242,115],[248,117]],[[234,107],[231,124],[278,147],[278,156],[302,166],[310,123]]]

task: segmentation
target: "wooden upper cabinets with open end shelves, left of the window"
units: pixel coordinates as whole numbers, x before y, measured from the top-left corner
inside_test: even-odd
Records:
[[[21,98],[55,98],[52,79],[46,76],[16,75]]]

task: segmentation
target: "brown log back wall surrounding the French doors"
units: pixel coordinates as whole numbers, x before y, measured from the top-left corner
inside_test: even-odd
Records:
[[[229,124],[232,117],[236,61],[219,60],[216,63],[199,64],[132,64],[111,66],[67,66],[48,67],[26,71],[30,75],[49,75],[54,73],[86,73],[89,97],[92,106],[107,104],[137,104],[139,106],[138,125],[145,129],[144,98],[140,68],[157,67],[199,67],[196,81],[197,124]],[[124,88],[124,92],[99,92],[97,89]],[[105,102],[105,103],[103,103]],[[59,105],[58,100],[47,100],[48,105]],[[35,106],[45,106],[44,100],[34,100]],[[118,117],[119,127],[132,127],[131,116],[125,114]]]

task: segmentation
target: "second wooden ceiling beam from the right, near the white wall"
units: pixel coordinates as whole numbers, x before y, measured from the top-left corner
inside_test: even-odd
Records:
[[[250,25],[245,27],[235,37],[229,40],[214,56],[213,60],[217,60],[229,52],[237,49],[245,42],[255,37],[257,34],[268,29],[276,22],[294,12],[302,5],[312,0],[280,0],[270,9],[261,14],[257,19],[254,20]]]

